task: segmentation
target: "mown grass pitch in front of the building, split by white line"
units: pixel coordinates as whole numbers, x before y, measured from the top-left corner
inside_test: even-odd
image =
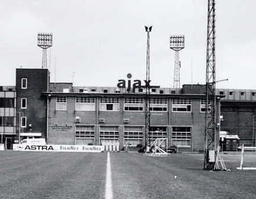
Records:
[[[203,170],[203,154],[110,153],[113,198],[255,198],[256,171]],[[247,157],[256,167],[256,155]],[[0,198],[105,198],[106,153],[0,152]],[[177,177],[175,177],[177,176]]]

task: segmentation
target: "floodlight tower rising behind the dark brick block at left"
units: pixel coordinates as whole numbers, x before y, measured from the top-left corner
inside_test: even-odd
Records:
[[[47,48],[52,47],[52,33],[38,33],[38,46],[43,48],[42,68],[47,68]]]

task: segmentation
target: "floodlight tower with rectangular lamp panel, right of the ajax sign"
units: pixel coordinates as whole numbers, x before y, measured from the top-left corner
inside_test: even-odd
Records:
[[[170,48],[175,51],[175,64],[174,64],[174,88],[180,88],[180,57],[179,51],[184,48],[185,36],[184,35],[171,35]]]

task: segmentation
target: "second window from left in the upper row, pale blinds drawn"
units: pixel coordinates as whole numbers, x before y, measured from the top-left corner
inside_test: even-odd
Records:
[[[95,98],[76,97],[76,110],[95,110]]]

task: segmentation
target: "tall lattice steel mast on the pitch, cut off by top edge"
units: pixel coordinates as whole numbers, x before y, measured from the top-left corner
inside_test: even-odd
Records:
[[[215,74],[215,0],[208,0],[207,23],[207,70],[205,84],[205,154],[204,169],[214,169],[216,164],[216,74]],[[210,160],[210,154],[215,154]]]

